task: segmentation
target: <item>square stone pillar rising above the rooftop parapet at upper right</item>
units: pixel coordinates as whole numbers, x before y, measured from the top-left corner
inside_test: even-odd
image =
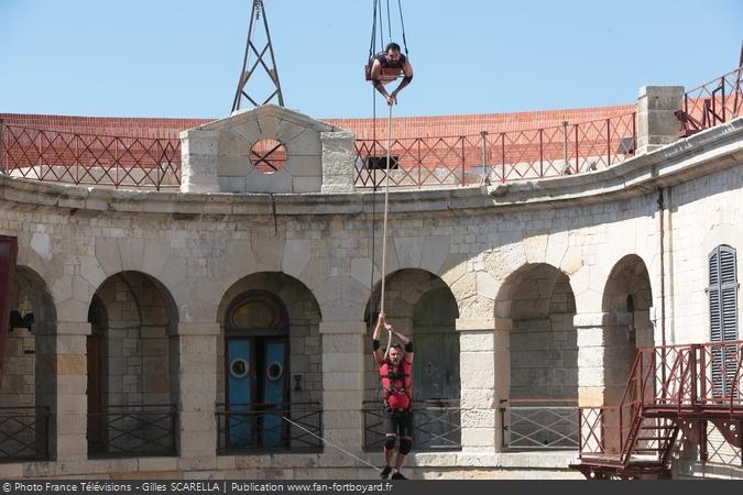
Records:
[[[684,106],[684,86],[643,86],[637,95],[637,152],[642,155],[678,139],[674,114]]]

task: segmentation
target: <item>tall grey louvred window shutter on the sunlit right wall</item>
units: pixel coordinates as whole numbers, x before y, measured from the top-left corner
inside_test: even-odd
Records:
[[[710,340],[737,340],[737,271],[735,250],[717,246],[709,255]],[[737,366],[737,346],[712,348],[712,384],[715,397],[730,395]]]

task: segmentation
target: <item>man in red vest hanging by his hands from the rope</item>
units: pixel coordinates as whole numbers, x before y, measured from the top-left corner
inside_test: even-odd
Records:
[[[403,345],[395,343],[390,346],[390,355],[385,358],[380,350],[380,331],[385,327],[390,331],[390,339],[394,334]],[[397,449],[397,459],[395,460],[395,472],[392,480],[405,480],[401,473],[405,457],[413,447],[413,416],[411,413],[413,399],[413,341],[402,333],[397,332],[392,326],[384,321],[384,314],[380,312],[372,337],[372,349],[376,365],[379,369],[382,388],[384,391],[385,405],[385,441],[384,459],[386,465],[380,473],[382,480],[386,480],[392,472],[390,463],[392,461],[393,449],[397,436],[400,436],[400,448]]]

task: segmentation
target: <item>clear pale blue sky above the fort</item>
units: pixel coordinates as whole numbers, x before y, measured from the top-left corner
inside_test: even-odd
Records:
[[[251,3],[0,0],[0,112],[226,117]],[[265,3],[286,107],[370,117],[372,0]],[[415,79],[396,116],[629,103],[733,69],[743,41],[740,0],[402,4]]]

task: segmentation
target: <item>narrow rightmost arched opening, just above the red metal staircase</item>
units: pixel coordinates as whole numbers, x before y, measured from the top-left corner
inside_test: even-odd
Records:
[[[651,321],[653,292],[647,266],[642,257],[627,254],[612,267],[602,294],[604,321],[604,404],[621,399],[637,349],[654,345]]]

